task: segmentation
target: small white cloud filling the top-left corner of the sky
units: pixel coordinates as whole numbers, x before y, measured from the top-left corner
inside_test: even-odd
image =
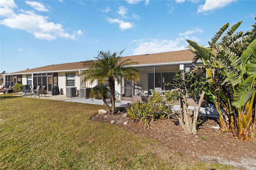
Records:
[[[14,3],[13,0],[1,0],[0,3],[0,15],[1,17],[7,17],[12,15],[13,9],[17,8],[17,5]]]

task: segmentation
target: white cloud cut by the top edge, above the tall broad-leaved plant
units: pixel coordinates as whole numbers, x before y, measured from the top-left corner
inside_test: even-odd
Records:
[[[204,5],[198,7],[197,13],[211,12],[223,8],[236,0],[206,0]]]

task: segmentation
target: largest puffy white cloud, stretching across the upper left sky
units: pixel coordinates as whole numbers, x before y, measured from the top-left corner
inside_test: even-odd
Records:
[[[16,4],[10,2],[11,1],[8,3],[1,3],[1,8],[13,11],[13,8],[16,8]],[[36,6],[34,4],[32,5]],[[81,30],[76,31],[73,34],[66,33],[61,24],[49,22],[48,16],[37,15],[34,11],[24,11],[22,9],[20,9],[19,12],[19,14],[14,12],[11,14],[11,12],[9,12],[8,15],[5,15],[6,18],[0,21],[0,24],[12,29],[24,30],[34,35],[35,38],[43,40],[54,40],[58,37],[75,40],[79,35],[82,35]]]

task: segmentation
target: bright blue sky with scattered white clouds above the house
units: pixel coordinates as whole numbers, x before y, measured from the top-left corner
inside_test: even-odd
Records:
[[[207,46],[221,26],[255,23],[255,0],[0,0],[0,72]]]

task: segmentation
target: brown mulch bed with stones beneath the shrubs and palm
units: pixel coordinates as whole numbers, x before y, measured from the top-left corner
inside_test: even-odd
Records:
[[[194,162],[208,162],[232,165],[236,169],[256,169],[256,139],[242,142],[228,136],[216,129],[218,119],[200,118],[200,126],[197,135],[185,134],[178,125],[178,119],[164,119],[151,124],[150,130],[144,130],[141,122],[134,123],[121,111],[116,115],[97,114],[92,121],[110,123],[120,126],[128,132],[148,136],[162,143],[166,148],[157,154],[162,157],[173,157],[180,153],[182,161],[187,164]],[[128,121],[128,124],[124,123]],[[175,158],[174,158],[175,161]]]

